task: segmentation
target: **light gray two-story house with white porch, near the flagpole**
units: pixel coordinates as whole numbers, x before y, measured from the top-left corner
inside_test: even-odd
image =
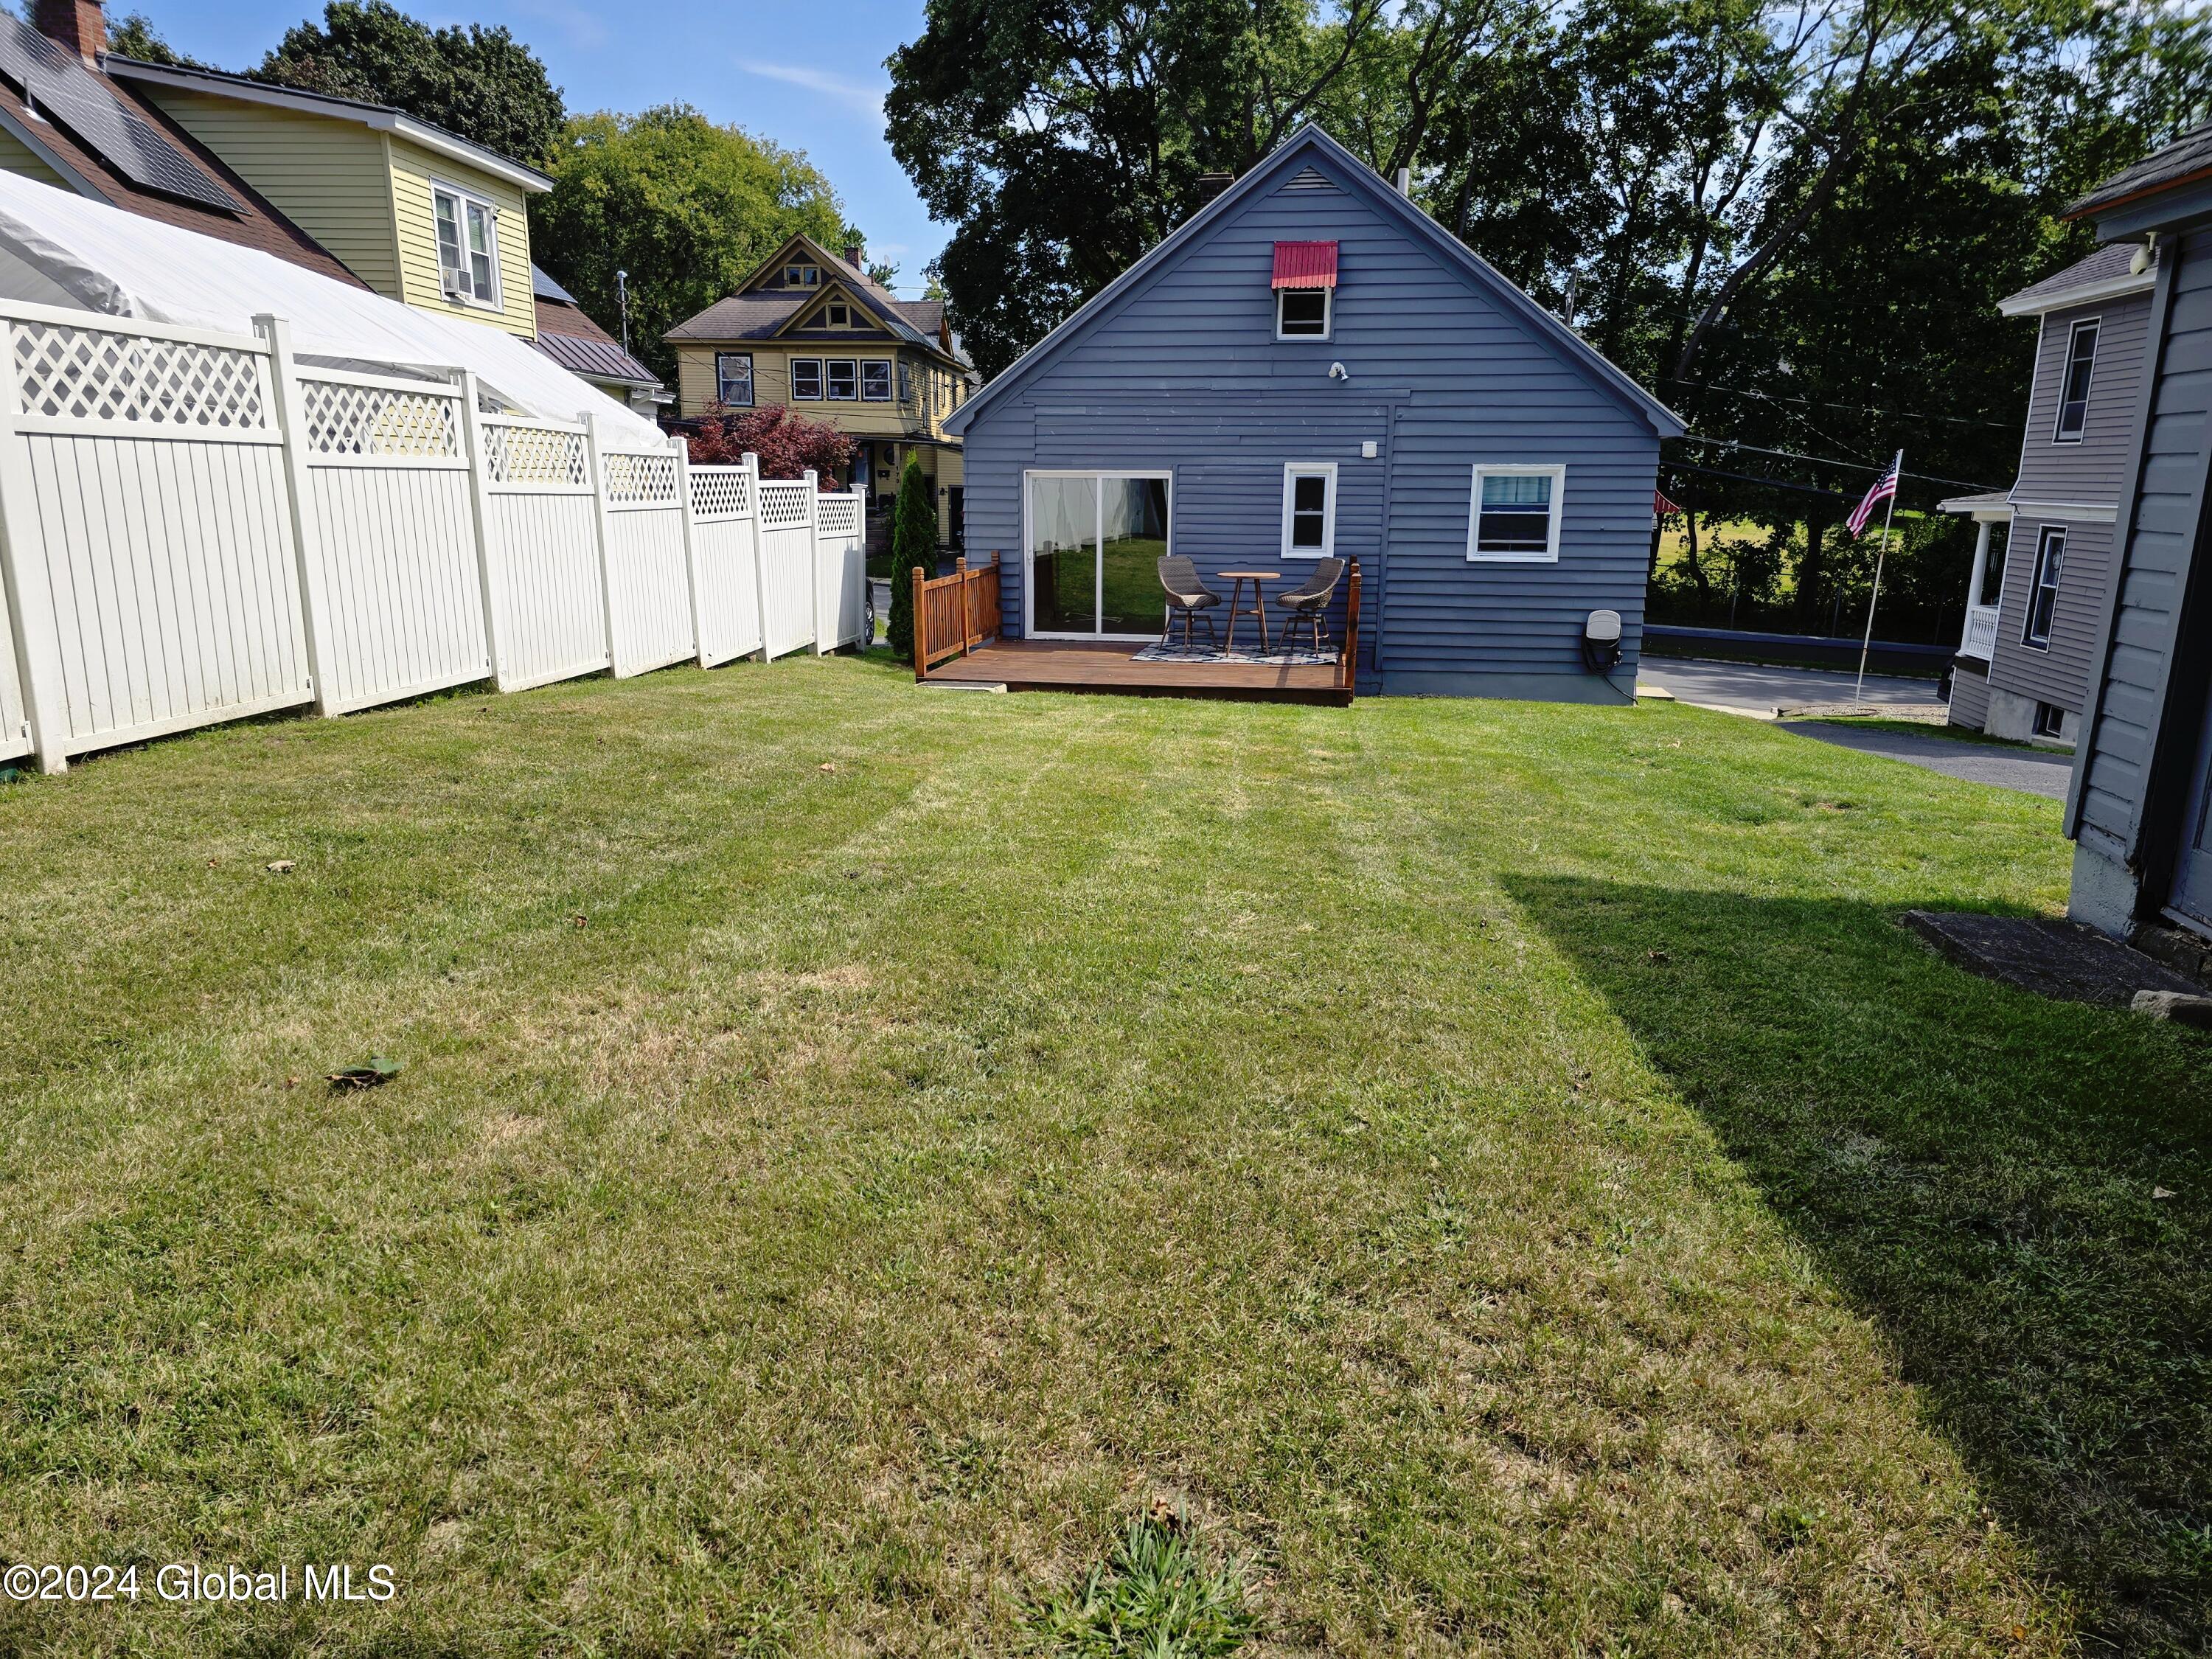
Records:
[[[2000,301],[2042,334],[2017,480],[1942,502],[1980,526],[1953,726],[2068,748],[2079,734],[2143,380],[2152,270],[2141,252],[2099,248]]]

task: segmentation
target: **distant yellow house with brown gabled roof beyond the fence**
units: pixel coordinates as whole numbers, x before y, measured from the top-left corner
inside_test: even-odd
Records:
[[[734,294],[668,330],[677,409],[790,405],[860,440],[854,482],[889,522],[907,456],[938,498],[938,540],[960,542],[960,440],[945,416],[975,389],[975,367],[945,301],[896,299],[869,281],[858,248],[834,254],[792,237]]]

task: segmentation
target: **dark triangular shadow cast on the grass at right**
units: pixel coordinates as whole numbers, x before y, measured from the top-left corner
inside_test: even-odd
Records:
[[[2212,1648],[2212,1037],[1871,905],[1506,889],[1880,1323],[2086,1650]]]

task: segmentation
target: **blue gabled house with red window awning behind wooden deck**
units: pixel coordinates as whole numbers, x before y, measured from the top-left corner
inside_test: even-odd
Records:
[[[1635,692],[1659,440],[1681,422],[1321,128],[947,425],[967,546],[1000,555],[1002,639],[1126,641],[1126,661],[1161,637],[1161,551],[1225,597],[1230,571],[1274,571],[1279,595],[1336,555],[1360,577],[1363,692]],[[1617,655],[1584,644],[1608,611]]]

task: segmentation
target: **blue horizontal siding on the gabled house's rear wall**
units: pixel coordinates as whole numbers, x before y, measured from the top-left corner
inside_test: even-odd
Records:
[[[1307,164],[1336,168],[1307,155],[1283,170]],[[1276,241],[1338,243],[1329,341],[1274,338]],[[1347,378],[1332,380],[1332,363]],[[1615,681],[1632,684],[1657,436],[1482,279],[1354,190],[1263,188],[1239,204],[980,409],[964,456],[969,546],[1004,555],[1009,633],[1024,604],[1024,469],[1170,471],[1177,553],[1217,582],[1256,566],[1283,568],[1287,586],[1301,566],[1281,553],[1283,465],[1334,460],[1336,551],[1363,566],[1369,686],[1378,668],[1425,686],[1588,679],[1579,639],[1597,608],[1621,613]],[[1478,462],[1566,467],[1557,564],[1467,560]],[[1340,613],[1343,595],[1332,630]]]

